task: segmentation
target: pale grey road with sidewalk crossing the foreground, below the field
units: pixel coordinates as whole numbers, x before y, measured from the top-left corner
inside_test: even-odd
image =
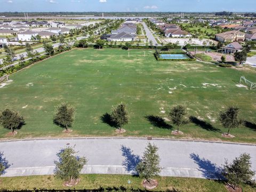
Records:
[[[89,159],[83,173],[131,174],[149,140],[141,138],[45,139],[0,142],[0,152],[11,165],[3,177],[53,174],[61,148],[75,146]],[[153,139],[159,148],[161,175],[220,178],[220,166],[241,153],[250,153],[256,170],[256,145]],[[0,155],[1,159],[1,155]]]

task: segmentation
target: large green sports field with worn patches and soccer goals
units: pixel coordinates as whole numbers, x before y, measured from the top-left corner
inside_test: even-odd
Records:
[[[250,67],[221,68],[196,61],[156,61],[153,50],[72,50],[11,75],[0,88],[0,110],[8,107],[25,116],[26,125],[15,138],[116,136],[101,121],[111,106],[127,103],[130,122],[121,136],[172,137],[175,127],[159,122],[173,105],[185,105],[193,123],[181,127],[183,138],[256,142],[255,91],[237,87],[241,76],[256,82]],[[76,108],[73,132],[62,133],[52,118],[54,106],[69,102]],[[219,111],[229,105],[241,109],[247,126],[231,130],[223,139]],[[168,120],[168,119],[167,119]],[[0,137],[9,130],[0,127]],[[119,136],[119,135],[118,135]]]

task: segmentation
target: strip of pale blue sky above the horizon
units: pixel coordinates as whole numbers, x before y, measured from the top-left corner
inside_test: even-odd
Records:
[[[0,0],[0,12],[256,12],[256,0]]]

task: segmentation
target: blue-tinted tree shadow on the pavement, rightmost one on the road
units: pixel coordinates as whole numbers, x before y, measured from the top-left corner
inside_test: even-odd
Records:
[[[209,159],[200,158],[197,154],[190,154],[190,158],[199,166],[199,170],[202,171],[203,177],[206,179],[225,179],[222,175],[222,167],[211,162]]]

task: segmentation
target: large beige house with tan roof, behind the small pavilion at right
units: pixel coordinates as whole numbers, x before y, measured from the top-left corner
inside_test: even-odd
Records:
[[[219,42],[242,42],[245,40],[245,33],[233,30],[224,33],[216,34],[215,39]]]

